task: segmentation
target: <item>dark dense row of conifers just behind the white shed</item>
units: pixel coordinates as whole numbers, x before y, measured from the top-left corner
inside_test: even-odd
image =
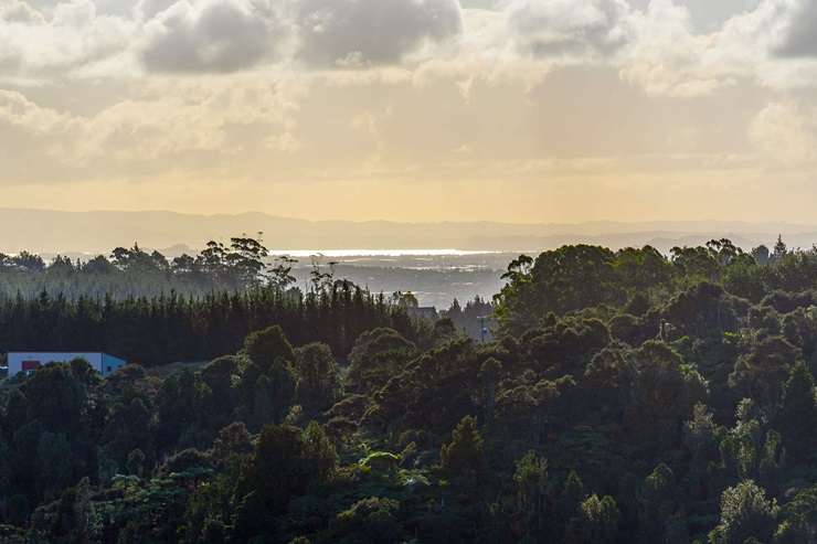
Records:
[[[156,366],[235,353],[248,333],[270,324],[298,344],[326,342],[339,355],[373,328],[418,334],[402,310],[348,282],[306,295],[266,286],[181,295],[159,282],[163,291],[137,296],[127,290],[136,280],[117,280],[126,289],[119,296],[41,289],[23,297],[3,295],[2,280],[0,268],[0,345],[15,350],[103,351]]]

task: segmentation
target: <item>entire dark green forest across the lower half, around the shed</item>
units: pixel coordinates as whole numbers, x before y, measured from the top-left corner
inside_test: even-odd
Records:
[[[4,260],[36,287],[6,289],[0,346],[141,355],[2,383],[0,542],[817,542],[817,249],[564,246],[434,323],[209,249],[165,276],[195,292]],[[71,266],[66,291],[96,278]],[[482,342],[461,320],[488,309]]]

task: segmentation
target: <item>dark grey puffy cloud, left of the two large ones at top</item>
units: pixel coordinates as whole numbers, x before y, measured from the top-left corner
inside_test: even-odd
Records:
[[[270,58],[284,34],[253,2],[180,1],[145,25],[140,58],[150,72],[237,72]]]

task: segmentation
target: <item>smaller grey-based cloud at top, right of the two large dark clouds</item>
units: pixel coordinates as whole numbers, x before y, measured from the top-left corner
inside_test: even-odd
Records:
[[[630,38],[624,0],[512,0],[506,9],[520,51],[537,57],[609,55]]]

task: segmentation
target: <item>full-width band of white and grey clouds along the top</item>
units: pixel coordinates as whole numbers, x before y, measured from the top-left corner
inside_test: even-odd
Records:
[[[690,12],[701,2],[0,0],[0,82],[326,72],[423,84],[456,72],[467,99],[480,78],[532,87],[590,65],[654,96],[817,86],[817,2],[734,0],[745,11],[705,30]]]

